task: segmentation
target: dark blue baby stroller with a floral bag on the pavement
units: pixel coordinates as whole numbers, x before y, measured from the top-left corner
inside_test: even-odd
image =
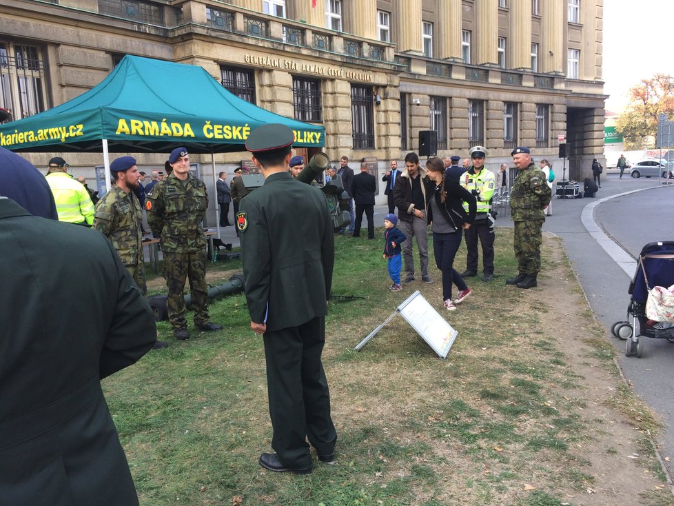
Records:
[[[644,343],[640,337],[667,339],[674,343],[674,323],[658,322],[646,316],[646,299],[654,286],[674,285],[674,241],[659,241],[646,244],[637,261],[637,272],[629,285],[631,295],[627,307],[627,321],[617,321],[611,325],[611,334],[625,339],[625,356],[641,357]],[[635,320],[639,321],[639,332],[635,332]]]

